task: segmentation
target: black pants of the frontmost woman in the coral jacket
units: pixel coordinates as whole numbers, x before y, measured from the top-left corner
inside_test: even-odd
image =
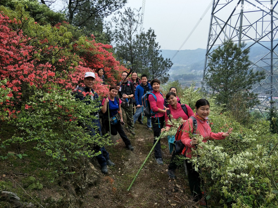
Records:
[[[198,202],[200,199],[202,199],[202,192],[201,192],[201,178],[197,171],[192,166],[192,163],[188,160],[185,160],[186,167],[188,170],[188,182],[189,187],[191,190],[191,194],[193,196],[193,199],[195,202]]]

